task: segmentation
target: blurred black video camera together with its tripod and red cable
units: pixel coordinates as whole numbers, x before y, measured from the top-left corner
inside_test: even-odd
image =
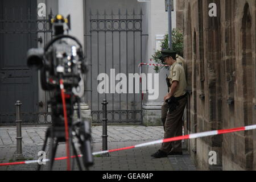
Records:
[[[65,131],[64,127],[64,118],[67,118],[70,130],[69,135],[71,135],[71,138],[77,138],[84,166],[88,168],[93,165],[93,156],[90,142],[90,123],[82,120],[80,110],[80,99],[84,94],[84,89],[81,88],[81,85],[84,84],[82,74],[86,73],[82,45],[75,37],[64,35],[65,24],[70,29],[70,16],[64,18],[62,15],[56,15],[55,18],[50,19],[55,38],[47,43],[44,48],[32,48],[27,52],[28,67],[40,70],[42,89],[53,93],[50,94],[51,98],[49,100],[53,127],[47,130],[43,151],[46,148],[47,138],[56,139],[56,143],[51,145],[55,147],[50,149],[53,156],[55,155],[57,144],[59,142],[67,142],[65,139],[65,132],[67,131]],[[71,44],[70,40],[75,42],[76,45]],[[61,89],[60,80],[63,81],[63,89]],[[77,92],[77,88],[79,88],[79,92]],[[65,90],[64,96],[61,94],[61,90]],[[73,122],[72,115],[75,104],[78,105],[78,119]],[[67,117],[65,117],[64,110],[67,112]],[[76,154],[73,139],[71,142],[73,151]],[[52,169],[53,161],[52,158],[50,169]],[[79,160],[77,160],[77,163],[80,167]]]

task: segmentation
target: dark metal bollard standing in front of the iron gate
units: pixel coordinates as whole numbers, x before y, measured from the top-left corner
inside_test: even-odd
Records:
[[[102,110],[103,110],[103,118],[102,118],[102,150],[108,150],[108,129],[107,129],[107,122],[108,122],[108,114],[107,114],[107,105],[109,104],[108,101],[103,100],[101,102]],[[104,154],[103,156],[109,156],[109,153]]]

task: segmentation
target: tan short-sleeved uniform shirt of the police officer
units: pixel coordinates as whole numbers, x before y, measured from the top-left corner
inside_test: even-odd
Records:
[[[185,78],[184,68],[177,63],[177,61],[172,65],[170,70],[171,84],[173,81],[179,82],[176,92],[174,93],[174,97],[184,96],[184,94],[187,92],[187,81]]]

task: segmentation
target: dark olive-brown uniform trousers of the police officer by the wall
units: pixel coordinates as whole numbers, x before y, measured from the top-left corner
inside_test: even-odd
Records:
[[[164,139],[178,137],[182,135],[182,126],[183,126],[183,113],[185,106],[187,104],[187,97],[179,100],[179,106],[176,110],[171,113],[168,112],[168,104],[164,102],[162,106],[162,122],[164,125]],[[166,116],[166,117],[164,117]],[[163,143],[160,150],[169,154],[173,152],[181,152],[181,140],[175,142]]]

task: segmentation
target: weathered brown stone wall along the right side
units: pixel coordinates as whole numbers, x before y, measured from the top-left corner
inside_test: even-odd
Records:
[[[189,100],[185,132],[256,124],[256,1],[183,1]],[[215,3],[217,16],[209,16]],[[179,17],[179,15],[177,15]],[[192,139],[200,169],[256,170],[256,131]],[[217,164],[209,164],[216,151]]]

